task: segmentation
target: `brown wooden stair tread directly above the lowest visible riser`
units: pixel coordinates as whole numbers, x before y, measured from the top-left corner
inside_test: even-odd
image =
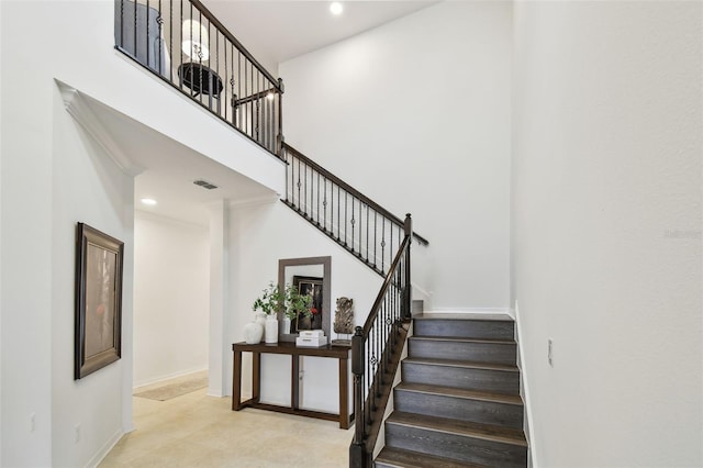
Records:
[[[445,417],[426,416],[423,414],[403,413],[394,411],[386,421],[387,424],[399,424],[409,427],[420,427],[439,433],[456,434],[480,438],[489,442],[527,447],[527,441],[522,430],[500,427],[468,421],[449,420]]]

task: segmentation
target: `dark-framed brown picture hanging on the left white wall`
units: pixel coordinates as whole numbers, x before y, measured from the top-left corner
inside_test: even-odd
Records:
[[[76,380],[122,357],[123,260],[123,242],[88,224],[77,224]]]

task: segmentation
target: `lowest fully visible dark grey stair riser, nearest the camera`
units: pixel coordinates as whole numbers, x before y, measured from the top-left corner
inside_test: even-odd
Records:
[[[480,438],[386,423],[386,445],[501,468],[527,465],[527,448]]]

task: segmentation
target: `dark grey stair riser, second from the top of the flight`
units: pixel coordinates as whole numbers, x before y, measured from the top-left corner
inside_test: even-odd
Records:
[[[411,338],[408,353],[410,357],[419,358],[461,359],[515,365],[515,343],[436,342]]]

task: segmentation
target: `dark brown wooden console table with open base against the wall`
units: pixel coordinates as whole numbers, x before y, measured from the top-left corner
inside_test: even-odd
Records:
[[[244,408],[257,408],[259,410],[278,411],[279,413],[298,414],[308,417],[317,417],[327,421],[339,421],[341,428],[349,428],[354,421],[354,411],[349,412],[349,381],[348,361],[349,346],[323,346],[319,348],[298,347],[294,343],[281,342],[276,344],[234,343],[234,375],[232,386],[232,411]],[[242,401],[242,353],[252,353],[252,398]],[[284,354],[291,357],[291,394],[290,406],[268,404],[259,402],[261,389],[261,354]],[[299,370],[300,356],[331,357],[339,361],[339,414],[324,413],[321,411],[302,410],[300,408]]]

